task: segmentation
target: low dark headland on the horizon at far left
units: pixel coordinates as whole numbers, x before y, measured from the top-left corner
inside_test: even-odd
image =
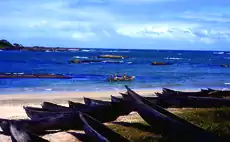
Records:
[[[21,44],[18,44],[18,43],[12,44],[7,40],[2,39],[0,40],[0,50],[55,52],[55,51],[80,51],[80,48],[42,47],[42,46],[25,47]]]

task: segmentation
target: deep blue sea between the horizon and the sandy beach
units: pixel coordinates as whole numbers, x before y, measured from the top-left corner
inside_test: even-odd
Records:
[[[96,59],[98,55],[127,56],[125,59],[103,59],[100,63],[69,64],[73,57]],[[119,63],[110,63],[110,61]],[[152,66],[151,62],[172,65]],[[230,88],[230,54],[214,51],[83,49],[73,52],[0,51],[2,73],[56,73],[73,79],[0,79],[0,93],[40,93],[57,91],[106,91],[124,89]],[[108,82],[111,74],[126,73],[131,82]]]

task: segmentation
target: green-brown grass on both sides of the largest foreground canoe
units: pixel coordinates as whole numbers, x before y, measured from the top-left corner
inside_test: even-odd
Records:
[[[230,139],[230,108],[181,110],[178,116],[189,122]],[[114,131],[133,142],[167,141],[159,134],[153,134],[151,128],[142,119],[138,123],[108,125]]]

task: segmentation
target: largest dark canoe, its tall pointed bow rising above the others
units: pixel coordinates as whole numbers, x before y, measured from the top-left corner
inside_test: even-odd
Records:
[[[167,110],[151,103],[127,86],[126,88],[140,116],[152,127],[158,126],[160,132],[163,134],[167,134],[173,139],[183,141],[221,141],[215,134],[196,127]]]

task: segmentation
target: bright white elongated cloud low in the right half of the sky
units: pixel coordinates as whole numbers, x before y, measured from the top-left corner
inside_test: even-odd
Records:
[[[185,40],[189,42],[203,42],[207,44],[219,40],[228,40],[230,30],[205,28],[198,24],[158,23],[122,25],[116,32],[122,36],[132,38]]]

